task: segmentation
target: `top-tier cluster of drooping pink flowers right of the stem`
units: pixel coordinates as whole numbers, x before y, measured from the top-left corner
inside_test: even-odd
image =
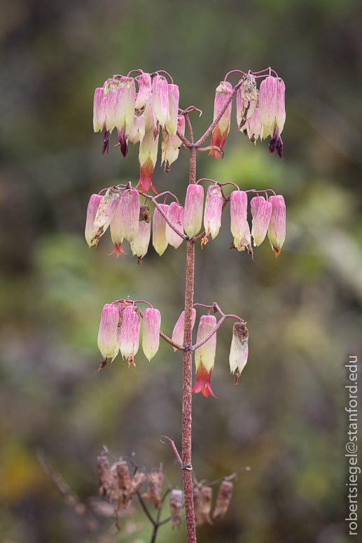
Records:
[[[270,70],[271,73],[271,70]],[[269,145],[269,154],[274,155],[277,150],[279,157],[283,158],[283,142],[280,134],[284,128],[285,112],[285,85],[278,76],[267,76],[260,83],[260,90],[256,87],[256,76],[249,72],[239,80],[237,89],[237,127],[249,137],[252,143],[272,136]],[[223,111],[232,94],[232,86],[221,81],[216,89],[214,104],[214,120]],[[214,127],[211,147],[216,146],[223,150],[225,139],[230,130],[232,101],[225,109],[225,113]],[[210,155],[218,159],[222,156],[218,150],[211,148]]]

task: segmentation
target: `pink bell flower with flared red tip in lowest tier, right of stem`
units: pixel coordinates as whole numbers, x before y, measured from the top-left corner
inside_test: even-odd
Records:
[[[216,327],[216,316],[202,315],[200,318],[199,327],[197,328],[196,342],[202,341]],[[195,351],[195,367],[196,367],[196,382],[193,387],[193,392],[202,394],[208,397],[209,394],[214,395],[211,390],[211,372],[214,369],[216,354],[216,333],[210,337],[201,347]]]

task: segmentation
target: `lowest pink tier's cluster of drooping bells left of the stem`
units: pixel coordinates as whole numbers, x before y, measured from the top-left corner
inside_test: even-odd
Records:
[[[160,346],[161,313],[158,309],[147,307],[143,315],[144,329],[142,349],[151,360]],[[105,304],[98,332],[98,348],[103,356],[99,369],[106,365],[107,358],[112,362],[120,353],[128,362],[134,364],[134,356],[139,349],[141,333],[141,311],[132,300],[121,299]]]

